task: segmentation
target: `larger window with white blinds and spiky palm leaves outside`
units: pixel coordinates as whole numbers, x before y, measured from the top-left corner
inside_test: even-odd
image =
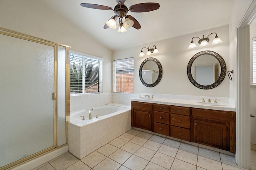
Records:
[[[102,60],[70,53],[70,94],[102,93]]]

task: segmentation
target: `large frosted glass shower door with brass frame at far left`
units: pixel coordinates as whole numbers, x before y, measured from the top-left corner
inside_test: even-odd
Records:
[[[0,34],[0,167],[56,145],[54,48]]]

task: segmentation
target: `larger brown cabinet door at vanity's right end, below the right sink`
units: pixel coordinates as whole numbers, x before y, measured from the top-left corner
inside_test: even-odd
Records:
[[[228,130],[226,124],[194,120],[194,142],[228,150]]]

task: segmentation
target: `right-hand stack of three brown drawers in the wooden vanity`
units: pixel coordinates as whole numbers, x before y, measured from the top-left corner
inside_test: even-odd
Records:
[[[190,109],[170,107],[170,136],[190,141]]]

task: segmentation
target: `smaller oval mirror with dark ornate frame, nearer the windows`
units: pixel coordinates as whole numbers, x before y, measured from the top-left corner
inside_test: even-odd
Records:
[[[160,82],[162,74],[162,65],[156,58],[147,58],[140,65],[140,81],[146,87],[155,87]]]

